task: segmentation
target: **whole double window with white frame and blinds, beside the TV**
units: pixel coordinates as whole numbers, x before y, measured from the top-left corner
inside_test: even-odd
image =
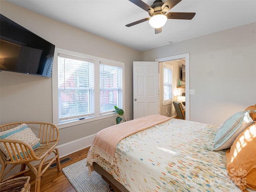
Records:
[[[114,106],[124,109],[123,62],[59,48],[55,52],[52,99],[58,128],[115,116]]]

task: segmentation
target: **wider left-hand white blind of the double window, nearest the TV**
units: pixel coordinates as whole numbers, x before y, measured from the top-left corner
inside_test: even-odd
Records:
[[[94,60],[58,54],[59,122],[94,114]]]

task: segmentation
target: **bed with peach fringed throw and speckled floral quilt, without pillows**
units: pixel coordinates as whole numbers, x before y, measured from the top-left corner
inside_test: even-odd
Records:
[[[211,150],[218,129],[160,115],[106,128],[88,152],[88,174],[95,170],[121,192],[240,192],[227,150]]]

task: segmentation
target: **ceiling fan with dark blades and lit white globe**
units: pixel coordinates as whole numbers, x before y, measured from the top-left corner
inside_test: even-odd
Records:
[[[185,12],[168,12],[176,4],[181,2],[181,0],[167,0],[165,3],[162,0],[155,0],[154,3],[149,6],[144,3],[142,0],[129,0],[140,8],[144,9],[150,17],[132,22],[125,26],[130,27],[136,24],[145,22],[149,20],[150,26],[155,28],[155,34],[162,32],[162,26],[166,23],[167,19],[186,19],[191,20],[196,13],[185,13]],[[166,12],[168,12],[166,14]]]

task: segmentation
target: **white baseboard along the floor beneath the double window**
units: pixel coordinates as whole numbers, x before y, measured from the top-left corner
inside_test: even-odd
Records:
[[[59,154],[60,154],[60,158],[64,157],[64,156],[68,156],[69,154],[72,154],[74,152],[77,152],[79,150],[82,150],[86,147],[89,147],[91,144],[92,144],[92,141],[94,139],[96,134],[93,134],[93,135],[89,135],[89,136],[86,136],[84,138],[80,138],[78,140],[74,140],[74,141],[71,141],[71,142],[68,142],[68,143],[65,143],[65,144],[61,144],[59,146],[57,146],[58,150],[59,150]],[[50,155],[48,159],[50,158],[53,158],[54,155]],[[32,162],[33,165],[37,165],[39,164],[39,161],[34,161]],[[8,167],[10,166],[7,166],[7,169]],[[2,166],[0,165],[0,168],[2,168]],[[20,171],[20,166],[16,166],[15,168],[13,168],[10,173],[7,174],[6,177],[8,176],[11,176],[15,173],[18,173]]]

